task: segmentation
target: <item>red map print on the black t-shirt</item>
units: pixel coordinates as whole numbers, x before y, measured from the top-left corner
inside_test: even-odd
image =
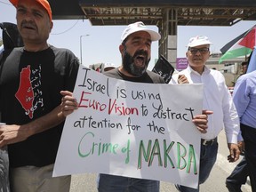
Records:
[[[34,101],[34,92],[30,80],[30,66],[28,68],[22,68],[20,72],[20,86],[18,92],[16,92],[15,97],[20,101],[22,108],[25,109],[26,114],[30,118],[33,118],[33,101]]]

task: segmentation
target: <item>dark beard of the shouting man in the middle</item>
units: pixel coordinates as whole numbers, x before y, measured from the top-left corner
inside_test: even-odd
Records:
[[[134,59],[138,55],[144,55],[144,57],[146,58],[146,60],[144,60],[143,67],[136,66],[136,64],[134,63]],[[147,59],[148,59],[148,52],[140,50],[135,52],[132,57],[132,55],[129,54],[129,52],[127,52],[126,49],[124,49],[123,67],[132,76],[142,76],[148,68],[148,63],[150,59],[149,60]]]

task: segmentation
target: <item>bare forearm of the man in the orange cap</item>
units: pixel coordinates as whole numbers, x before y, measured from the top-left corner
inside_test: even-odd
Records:
[[[41,116],[28,124],[0,125],[0,148],[5,145],[27,140],[28,137],[39,132],[44,132],[65,120],[61,106],[54,108],[50,113]],[[46,140],[47,142],[47,140]]]

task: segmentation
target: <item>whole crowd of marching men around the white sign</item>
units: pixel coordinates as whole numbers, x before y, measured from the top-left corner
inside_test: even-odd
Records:
[[[6,148],[9,156],[7,165],[6,159],[3,161],[0,156],[0,183],[4,174],[10,180],[10,186],[6,180],[0,191],[68,192],[71,176],[52,177],[52,172],[66,116],[78,108],[72,92],[79,60],[68,49],[47,43],[53,27],[52,9],[47,0],[10,2],[17,10],[17,27],[24,46],[14,48],[0,67],[0,122],[4,123],[0,124],[0,148]],[[162,76],[147,69],[151,44],[160,38],[158,32],[148,29],[141,21],[128,25],[119,45],[121,66],[106,64],[102,73],[135,83],[165,84]],[[175,187],[181,192],[200,190],[216,162],[218,135],[224,128],[228,162],[236,162],[244,148],[243,160],[226,180],[227,188],[232,192],[241,191],[249,176],[254,192],[256,72],[240,76],[231,97],[220,71],[205,65],[211,44],[207,36],[191,37],[186,52],[188,68],[171,81],[171,84],[204,84],[204,112],[193,119],[201,135],[198,188],[178,184]],[[3,166],[9,171],[3,172]],[[159,180],[100,173],[98,191],[157,192],[159,186]]]

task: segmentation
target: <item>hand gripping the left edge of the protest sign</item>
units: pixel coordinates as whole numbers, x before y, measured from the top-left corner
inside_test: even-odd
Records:
[[[68,116],[78,108],[78,103],[76,102],[76,99],[73,97],[72,92],[61,91],[60,94],[63,96],[60,104],[61,112],[63,116]]]

